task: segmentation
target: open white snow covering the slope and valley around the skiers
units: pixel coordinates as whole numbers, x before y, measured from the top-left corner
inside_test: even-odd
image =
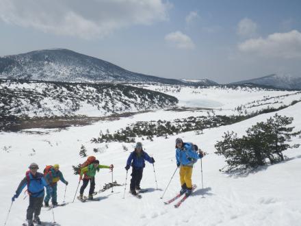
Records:
[[[28,85],[27,85],[28,86]],[[300,225],[301,221],[301,148],[285,151],[288,159],[280,164],[258,168],[243,175],[227,175],[219,171],[225,165],[224,158],[215,155],[215,143],[225,131],[245,134],[250,125],[265,121],[276,112],[259,114],[232,125],[204,129],[202,134],[187,131],[177,135],[155,137],[153,141],[145,137],[141,140],[145,151],[155,158],[155,173],[158,187],[156,190],[154,169],[146,163],[142,188],[148,192],[137,199],[129,194],[129,179],[125,199],[122,199],[124,186],[114,187],[96,195],[101,201],[72,203],[78,184],[78,176],[73,175],[72,165],[83,162],[79,149],[84,145],[88,155],[95,155],[101,164],[114,164],[114,180],[125,184],[125,164],[134,143],[107,142],[94,143],[91,138],[99,136],[100,131],[116,131],[140,121],[171,121],[189,116],[208,114],[230,115],[241,113],[239,106],[246,106],[248,112],[287,105],[277,113],[293,116],[293,126],[301,129],[300,93],[293,91],[264,90],[259,88],[176,88],[173,86],[147,86],[179,99],[181,108],[144,112],[131,117],[112,121],[98,121],[84,127],[69,127],[62,131],[55,129],[26,129],[18,133],[0,133],[0,166],[4,172],[0,177],[0,218],[4,221],[19,182],[25,176],[31,162],[40,165],[40,171],[47,164],[60,164],[64,177],[69,181],[64,207],[54,208],[57,225]],[[257,104],[258,101],[258,104]],[[278,101],[278,103],[277,103]],[[283,103],[280,103],[280,102]],[[294,103],[291,105],[291,103]],[[214,108],[213,110],[209,108]],[[174,197],[180,190],[179,171],[176,172],[163,199],[163,190],[176,170],[174,140],[195,142],[208,153],[202,159],[204,189],[202,189],[200,162],[194,166],[192,181],[198,187],[179,209],[164,205],[163,201]],[[144,140],[142,140],[144,139]],[[16,140],[18,142],[16,142]],[[291,143],[300,143],[296,137]],[[99,150],[94,152],[93,149]],[[127,151],[126,149],[129,149]],[[107,169],[96,174],[96,190],[112,181]],[[58,184],[58,201],[64,200],[64,184]],[[88,192],[86,190],[86,192]],[[25,221],[28,197],[21,194],[13,203],[9,225],[21,225]],[[51,223],[53,214],[42,209],[42,221]],[[48,224],[49,225],[49,224]]]

